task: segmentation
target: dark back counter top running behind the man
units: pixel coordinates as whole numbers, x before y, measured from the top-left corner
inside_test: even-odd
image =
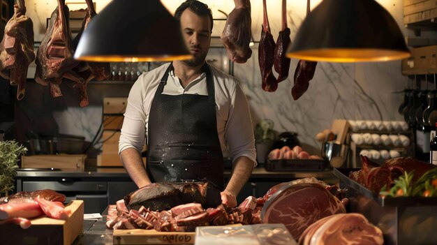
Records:
[[[230,177],[231,170],[225,170],[225,178]],[[17,177],[118,177],[129,178],[128,173],[124,168],[85,168],[81,170],[58,170],[58,171],[21,171],[17,170]],[[253,169],[251,178],[255,179],[300,179],[305,177],[316,177],[318,179],[333,179],[336,178],[332,174],[332,169],[313,172],[268,172],[265,168]]]

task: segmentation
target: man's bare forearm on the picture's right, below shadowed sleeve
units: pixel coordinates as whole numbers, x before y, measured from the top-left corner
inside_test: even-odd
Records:
[[[253,161],[246,156],[240,156],[237,158],[225,191],[237,196],[239,191],[242,190],[244,184],[249,180],[249,177],[251,177],[253,166]]]

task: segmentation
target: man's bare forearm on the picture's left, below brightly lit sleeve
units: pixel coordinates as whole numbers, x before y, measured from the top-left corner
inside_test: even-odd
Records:
[[[142,163],[141,155],[135,148],[124,149],[124,151],[121,151],[120,157],[124,169],[126,169],[138,188],[151,183],[144,163]]]

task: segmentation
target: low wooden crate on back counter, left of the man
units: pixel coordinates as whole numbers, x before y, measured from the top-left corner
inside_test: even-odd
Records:
[[[59,154],[22,156],[21,168],[60,168],[63,170],[84,170],[87,155]]]

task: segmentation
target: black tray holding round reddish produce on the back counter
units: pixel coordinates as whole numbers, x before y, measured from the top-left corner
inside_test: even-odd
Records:
[[[323,171],[327,165],[325,159],[267,159],[265,170],[269,172]]]

